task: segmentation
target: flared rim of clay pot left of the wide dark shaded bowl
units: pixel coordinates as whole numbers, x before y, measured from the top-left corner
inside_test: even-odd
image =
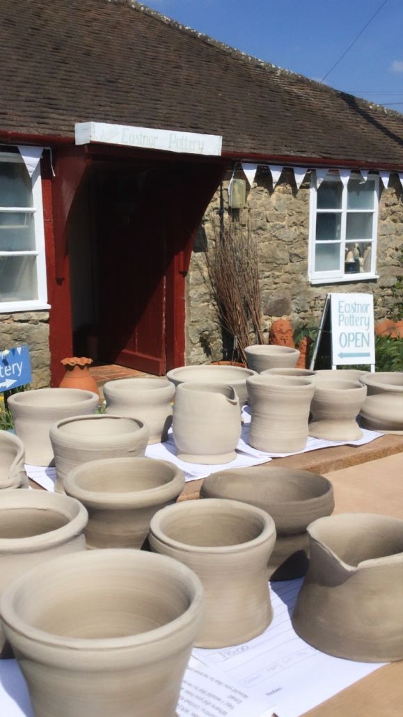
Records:
[[[98,492],[97,490],[88,490],[82,488],[81,485],[77,485],[77,475],[80,476],[82,470],[86,468],[96,467],[99,463],[105,465],[106,462],[111,467],[116,464],[123,465],[123,462],[133,464],[133,461],[141,461],[142,465],[162,465],[166,470],[172,472],[171,480],[167,483],[157,485],[155,488],[146,488],[146,490],[128,490],[125,493],[110,492]],[[133,464],[134,467],[135,464]],[[138,464],[140,467],[140,464]],[[70,470],[66,478],[63,478],[63,487],[66,490],[67,495],[72,495],[76,500],[84,501],[85,504],[90,505],[93,508],[100,508],[105,503],[111,503],[114,508],[120,508],[122,510],[127,509],[132,511],[133,508],[143,508],[146,505],[156,505],[161,503],[161,500],[169,500],[179,495],[184,489],[185,475],[184,472],[177,467],[174,463],[170,463],[167,460],[156,460],[154,458],[143,458],[143,457],[120,457],[120,458],[104,458],[100,460],[90,460],[81,465],[77,465],[75,468]]]

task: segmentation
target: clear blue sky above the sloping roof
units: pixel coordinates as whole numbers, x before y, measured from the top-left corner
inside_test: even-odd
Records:
[[[403,0],[144,0],[272,65],[403,113]]]

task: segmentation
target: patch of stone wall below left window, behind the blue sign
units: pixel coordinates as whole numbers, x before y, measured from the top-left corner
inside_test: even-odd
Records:
[[[14,346],[29,346],[32,389],[49,386],[49,313],[0,314],[0,351]]]

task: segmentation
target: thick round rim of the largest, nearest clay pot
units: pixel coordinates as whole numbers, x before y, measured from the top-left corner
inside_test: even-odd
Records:
[[[155,564],[153,569],[154,571],[158,571],[158,576],[161,576],[162,572],[165,572],[169,576],[174,574],[178,583],[183,584],[183,586],[188,590],[189,606],[181,615],[179,615],[179,617],[176,617],[166,625],[161,625],[153,630],[139,632],[135,635],[127,635],[125,637],[99,637],[93,639],[52,635],[50,632],[45,632],[44,630],[39,630],[37,627],[32,627],[32,625],[29,625],[29,623],[17,614],[14,603],[18,602],[18,599],[15,599],[15,597],[18,596],[20,591],[24,590],[24,584],[25,589],[29,589],[29,581],[32,578],[41,579],[41,577],[44,577],[44,579],[46,579],[49,574],[52,575],[53,565],[57,566],[57,564],[62,565],[64,563],[68,569],[70,564],[73,564],[74,566],[76,562],[80,563],[80,561],[87,561],[91,567],[94,563],[102,564],[103,561],[108,561],[109,559],[113,559],[115,565],[118,561],[128,565],[131,569],[133,569],[133,573],[136,571],[136,565],[153,562]],[[59,556],[32,568],[4,589],[4,592],[0,597],[0,609],[1,617],[4,619],[6,625],[8,625],[11,630],[14,630],[14,632],[18,632],[19,635],[25,639],[39,642],[41,645],[50,648],[59,647],[63,651],[68,650],[70,652],[70,650],[80,650],[81,656],[83,652],[87,652],[89,655],[95,657],[97,652],[102,653],[103,651],[108,650],[132,650],[133,648],[152,646],[154,642],[169,639],[169,637],[172,637],[175,633],[188,629],[189,625],[191,625],[194,620],[198,619],[203,601],[204,589],[199,577],[194,573],[194,571],[179,561],[174,560],[169,556],[156,553],[142,553],[141,551],[128,550],[124,548],[108,548],[96,551],[70,553]],[[55,655],[53,650],[51,652],[51,656],[54,659]],[[57,660],[55,661],[57,663]]]

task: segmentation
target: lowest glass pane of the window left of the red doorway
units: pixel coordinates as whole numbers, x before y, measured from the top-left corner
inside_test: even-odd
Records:
[[[0,301],[38,298],[37,257],[0,257]]]

